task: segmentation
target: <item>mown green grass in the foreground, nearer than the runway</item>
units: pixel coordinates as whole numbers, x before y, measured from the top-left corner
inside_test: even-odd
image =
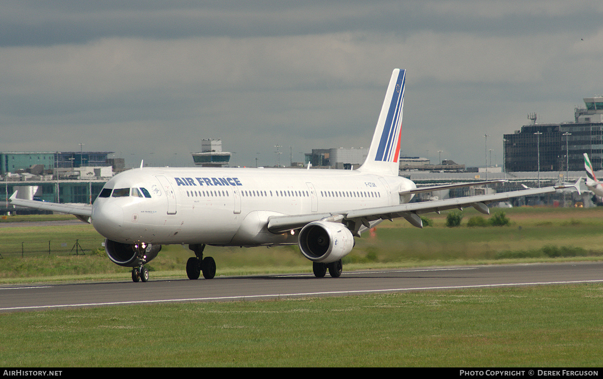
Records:
[[[591,367],[603,285],[0,314],[3,367]]]

